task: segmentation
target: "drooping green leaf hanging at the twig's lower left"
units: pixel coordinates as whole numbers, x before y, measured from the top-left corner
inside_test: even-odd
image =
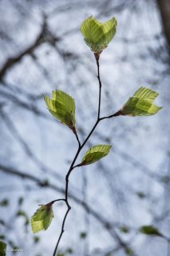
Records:
[[[31,218],[33,233],[37,233],[40,230],[47,230],[53,217],[52,205],[41,205]]]

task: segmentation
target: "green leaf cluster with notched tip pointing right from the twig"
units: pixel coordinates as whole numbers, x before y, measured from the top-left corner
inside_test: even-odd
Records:
[[[153,104],[154,99],[158,95],[159,94],[154,90],[140,87],[140,89],[128,99],[128,102],[125,103],[119,112],[122,115],[129,115],[133,117],[156,114],[162,109],[162,107]]]

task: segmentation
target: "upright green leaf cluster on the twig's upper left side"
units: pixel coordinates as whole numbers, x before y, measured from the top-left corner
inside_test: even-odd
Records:
[[[49,112],[54,118],[71,130],[75,129],[75,103],[74,99],[61,90],[52,92],[52,98],[44,96]]]

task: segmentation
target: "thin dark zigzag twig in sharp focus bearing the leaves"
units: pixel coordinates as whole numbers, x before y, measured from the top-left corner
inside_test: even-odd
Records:
[[[53,256],[56,256],[58,245],[59,245],[59,243],[61,241],[62,234],[65,231],[65,221],[66,221],[66,218],[67,218],[67,216],[69,214],[69,210],[71,210],[71,206],[69,205],[69,200],[68,200],[68,194],[69,194],[69,192],[68,192],[69,191],[69,175],[71,174],[72,170],[78,166],[78,165],[74,166],[74,163],[76,162],[78,155],[80,154],[82,148],[85,146],[85,143],[89,140],[90,136],[93,134],[93,131],[96,129],[98,123],[101,121],[100,114],[101,114],[101,86],[102,85],[101,85],[101,77],[100,77],[99,58],[97,58],[96,55],[95,55],[95,58],[96,58],[96,61],[97,61],[97,78],[98,78],[98,82],[99,82],[99,99],[98,99],[97,121],[95,122],[92,130],[89,132],[89,135],[85,138],[85,141],[82,144],[79,141],[79,138],[77,136],[77,132],[74,133],[76,135],[76,138],[77,138],[78,149],[77,149],[77,153],[75,154],[75,157],[73,158],[73,162],[71,163],[71,165],[69,167],[69,171],[68,171],[68,173],[65,176],[65,204],[66,204],[68,209],[67,209],[67,211],[65,213],[65,217],[63,218],[63,222],[62,222],[62,226],[61,226],[61,233],[59,235],[59,238],[57,239],[57,244],[56,244],[55,249],[53,251]]]

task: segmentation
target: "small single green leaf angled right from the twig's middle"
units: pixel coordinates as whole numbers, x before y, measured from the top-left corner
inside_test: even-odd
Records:
[[[82,158],[80,166],[90,165],[91,163],[97,162],[101,158],[104,158],[107,154],[109,154],[111,147],[112,146],[110,145],[97,145],[90,147]]]

